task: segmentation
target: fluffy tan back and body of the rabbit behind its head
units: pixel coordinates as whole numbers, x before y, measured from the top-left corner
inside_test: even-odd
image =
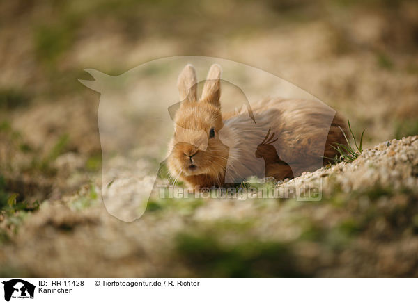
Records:
[[[268,129],[278,139],[274,147],[279,158],[291,165],[295,177],[304,171],[320,168],[323,163],[327,163],[324,156],[334,157],[335,150],[331,145],[344,142],[339,128],[346,129],[343,119],[335,110],[320,101],[266,98],[251,106],[251,110],[255,122],[251,121],[247,107],[224,115],[226,126],[233,127],[236,131],[242,129],[238,132],[240,138],[233,145],[240,161],[245,163],[240,165],[243,170],[249,170],[248,163],[251,161],[254,163],[252,149],[263,141]],[[260,165],[255,166],[259,168]],[[257,170],[253,174],[260,175],[261,172],[256,167],[252,169]]]

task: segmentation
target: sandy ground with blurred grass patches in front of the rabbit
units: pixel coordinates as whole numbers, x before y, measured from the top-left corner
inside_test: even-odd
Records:
[[[1,252],[29,277],[417,277],[418,137],[366,149],[295,179],[320,202],[168,199],[139,220],[107,213],[93,188],[44,202]],[[277,185],[292,186],[293,181]],[[92,265],[93,263],[93,265]]]

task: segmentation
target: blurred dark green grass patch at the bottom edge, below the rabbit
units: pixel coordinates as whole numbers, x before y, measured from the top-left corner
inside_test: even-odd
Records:
[[[224,242],[213,232],[178,234],[176,248],[203,277],[303,277],[288,243],[245,237]]]

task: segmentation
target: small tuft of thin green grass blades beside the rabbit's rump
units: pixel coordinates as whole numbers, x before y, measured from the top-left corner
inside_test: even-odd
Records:
[[[357,145],[357,140],[355,139],[355,135],[353,133],[353,130],[351,129],[350,120],[347,120],[347,122],[348,122],[348,129],[350,130],[351,137],[353,138],[353,141],[354,141],[354,145],[350,143],[346,133],[340,127],[341,131],[343,132],[344,138],[346,138],[347,144],[334,143],[334,145],[332,145],[332,148],[334,148],[337,152],[335,157],[334,158],[324,157],[324,158],[327,158],[328,160],[334,161],[334,164],[341,163],[341,162],[351,163],[355,161],[355,159],[357,159],[358,156],[362,154],[363,152],[363,136],[364,136],[364,131],[366,130],[364,129],[364,131],[362,132],[362,136],[360,137],[359,144]]]

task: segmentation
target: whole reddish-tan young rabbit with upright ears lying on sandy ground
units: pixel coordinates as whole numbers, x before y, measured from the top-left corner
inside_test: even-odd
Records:
[[[191,188],[222,187],[251,176],[279,181],[334,158],[332,144],[344,142],[346,124],[332,108],[316,100],[268,97],[222,114],[221,74],[219,65],[210,67],[199,99],[193,65],[178,76],[183,101],[173,117],[167,156],[173,178]]]

